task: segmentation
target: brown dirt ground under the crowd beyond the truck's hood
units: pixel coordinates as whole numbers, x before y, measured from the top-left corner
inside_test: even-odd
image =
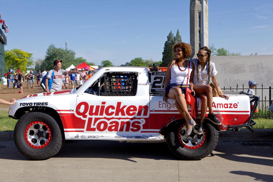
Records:
[[[19,88],[15,89],[12,87],[13,82],[11,82],[11,88],[7,88],[7,85],[3,85],[1,83],[0,87],[0,98],[10,101],[12,98],[20,99],[24,96],[28,96],[31,94],[41,93],[44,92],[44,89],[41,86],[37,86],[37,83],[34,84],[33,88],[26,88],[26,82],[23,83],[23,94],[19,94]],[[74,86],[75,88],[76,86]],[[69,89],[72,89],[72,86],[69,85]],[[0,104],[0,108],[9,108],[9,105]]]

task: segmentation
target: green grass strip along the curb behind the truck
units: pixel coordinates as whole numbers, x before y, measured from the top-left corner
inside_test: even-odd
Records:
[[[253,126],[254,129],[273,129],[273,119],[258,117],[253,120],[256,122],[256,125]],[[0,132],[13,131],[16,123],[16,119],[9,117],[9,111],[0,110]]]

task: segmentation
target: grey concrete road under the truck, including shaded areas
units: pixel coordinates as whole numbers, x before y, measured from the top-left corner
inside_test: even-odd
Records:
[[[32,161],[0,141],[0,181],[272,181],[273,135],[236,135],[220,137],[200,161],[177,160],[166,143],[110,141],[69,141],[53,158]],[[271,146],[242,145],[253,139]]]

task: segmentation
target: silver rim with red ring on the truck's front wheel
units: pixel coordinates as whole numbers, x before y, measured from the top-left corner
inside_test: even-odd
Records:
[[[44,148],[51,140],[51,129],[42,121],[33,121],[25,129],[24,140],[32,148]]]

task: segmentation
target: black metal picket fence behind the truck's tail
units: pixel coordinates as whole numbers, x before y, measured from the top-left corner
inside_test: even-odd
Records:
[[[231,86],[230,86],[230,88],[224,87],[222,90],[233,90],[233,91],[236,90],[236,92],[239,92],[239,91],[247,92],[248,88],[249,88],[249,86],[247,85],[245,87],[244,84],[243,84],[243,88],[238,88],[238,84],[237,84],[236,88],[231,88]],[[257,113],[255,113],[253,117],[272,118],[270,110],[269,110],[269,105],[270,105],[270,101],[271,101],[271,86],[269,88],[264,88],[264,86],[262,84],[262,88],[257,88],[257,85],[256,85],[254,90],[255,90],[256,95],[259,96],[260,101],[257,106]]]

